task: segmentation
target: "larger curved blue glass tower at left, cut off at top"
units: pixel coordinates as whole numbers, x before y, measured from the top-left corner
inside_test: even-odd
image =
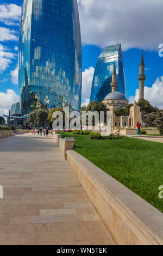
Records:
[[[18,83],[22,114],[37,107],[80,109],[82,46],[77,0],[24,0]]]

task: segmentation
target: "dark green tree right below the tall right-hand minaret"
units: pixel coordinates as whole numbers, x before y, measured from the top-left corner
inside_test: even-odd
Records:
[[[137,103],[140,106],[140,111],[142,115],[142,120],[146,123],[146,115],[152,112],[156,112],[159,109],[157,107],[153,107],[148,100],[140,99]]]

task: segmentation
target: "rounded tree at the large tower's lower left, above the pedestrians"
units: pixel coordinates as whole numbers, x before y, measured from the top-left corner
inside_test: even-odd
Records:
[[[48,109],[35,109],[33,112],[29,114],[28,123],[29,124],[37,124],[39,126],[45,126],[48,118]]]

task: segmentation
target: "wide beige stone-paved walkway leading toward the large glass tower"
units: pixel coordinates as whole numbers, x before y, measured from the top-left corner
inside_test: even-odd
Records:
[[[115,244],[51,135],[0,139],[0,153],[0,245]]]

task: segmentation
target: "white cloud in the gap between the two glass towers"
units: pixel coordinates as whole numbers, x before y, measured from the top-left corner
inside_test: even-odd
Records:
[[[82,106],[89,104],[94,71],[95,69],[91,66],[82,72],[82,100],[84,100]]]

